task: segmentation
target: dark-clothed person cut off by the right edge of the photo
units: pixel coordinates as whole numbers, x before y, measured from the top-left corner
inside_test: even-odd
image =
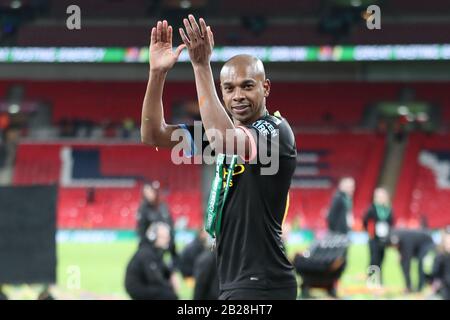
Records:
[[[442,242],[433,264],[433,288],[444,300],[450,300],[450,226],[442,234]]]

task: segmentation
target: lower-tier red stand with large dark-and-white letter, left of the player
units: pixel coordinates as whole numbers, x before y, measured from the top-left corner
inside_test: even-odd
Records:
[[[69,164],[62,155],[67,147]],[[144,180],[170,186],[167,197],[174,217],[184,218],[189,227],[201,223],[200,168],[173,164],[168,150],[132,144],[22,143],[14,172],[14,185],[60,185],[58,217],[63,228],[133,228]],[[89,201],[90,192],[94,195]]]

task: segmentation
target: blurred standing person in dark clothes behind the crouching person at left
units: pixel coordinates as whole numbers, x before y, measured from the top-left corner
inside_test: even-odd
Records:
[[[137,213],[137,232],[139,243],[148,242],[146,232],[155,222],[164,222],[170,227],[170,245],[168,250],[174,266],[178,265],[178,253],[175,246],[175,227],[167,205],[161,201],[158,181],[146,183],[142,190],[142,202]]]

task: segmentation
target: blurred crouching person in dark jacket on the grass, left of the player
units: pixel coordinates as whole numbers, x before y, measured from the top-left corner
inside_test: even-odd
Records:
[[[174,275],[164,263],[163,255],[170,243],[170,228],[163,222],[153,223],[128,264],[125,288],[134,300],[175,300]]]

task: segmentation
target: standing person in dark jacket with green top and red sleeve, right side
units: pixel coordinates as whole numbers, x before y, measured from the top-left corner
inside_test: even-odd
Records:
[[[369,234],[370,265],[379,267],[381,271],[384,252],[389,242],[389,232],[393,224],[393,213],[386,189],[375,189],[373,204],[367,210],[363,224]]]

